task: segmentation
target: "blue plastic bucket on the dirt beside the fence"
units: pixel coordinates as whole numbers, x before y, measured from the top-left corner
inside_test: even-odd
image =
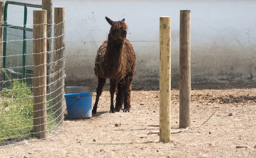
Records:
[[[88,118],[92,116],[93,93],[65,94],[68,118]]]

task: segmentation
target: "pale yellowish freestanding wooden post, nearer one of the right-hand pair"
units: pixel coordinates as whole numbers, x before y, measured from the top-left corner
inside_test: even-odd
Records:
[[[160,142],[171,140],[171,17],[160,17]]]

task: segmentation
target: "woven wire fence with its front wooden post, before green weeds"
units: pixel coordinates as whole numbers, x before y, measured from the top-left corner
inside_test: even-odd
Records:
[[[49,135],[64,119],[65,21],[26,25],[32,29],[4,23],[3,36],[7,40],[1,42],[5,53],[0,68],[4,76],[0,82],[0,143],[38,136],[38,133]],[[47,25],[53,26],[54,35],[35,39],[33,29],[40,26],[39,32],[43,32]],[[26,31],[25,39],[23,31]],[[47,41],[51,43],[50,51],[45,51]],[[51,59],[48,63],[46,56]]]

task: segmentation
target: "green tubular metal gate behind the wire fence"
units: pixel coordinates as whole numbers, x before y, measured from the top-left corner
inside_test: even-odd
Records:
[[[23,26],[8,24],[8,5],[24,6]],[[42,8],[42,5],[6,1],[3,23],[3,87],[12,79],[19,79],[32,86],[33,77],[33,29],[26,28],[27,7]],[[10,80],[10,81],[9,81]]]

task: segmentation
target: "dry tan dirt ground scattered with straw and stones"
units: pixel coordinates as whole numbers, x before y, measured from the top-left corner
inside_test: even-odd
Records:
[[[106,90],[108,90],[106,88]],[[0,146],[1,158],[255,158],[256,89],[192,90],[192,126],[159,143],[159,91],[132,91],[130,113],[109,113],[104,91],[96,116],[65,118],[58,135]],[[93,93],[93,104],[96,93]],[[172,90],[172,131],[179,130],[179,91]],[[143,105],[141,105],[143,103]],[[119,126],[115,126],[119,124]],[[154,125],[154,126],[150,126]]]

